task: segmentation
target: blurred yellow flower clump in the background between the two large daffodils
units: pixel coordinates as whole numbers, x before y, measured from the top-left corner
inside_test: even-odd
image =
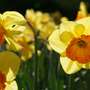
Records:
[[[55,30],[55,24],[48,13],[30,9],[26,11],[26,19],[39,32],[41,39],[46,40]]]

